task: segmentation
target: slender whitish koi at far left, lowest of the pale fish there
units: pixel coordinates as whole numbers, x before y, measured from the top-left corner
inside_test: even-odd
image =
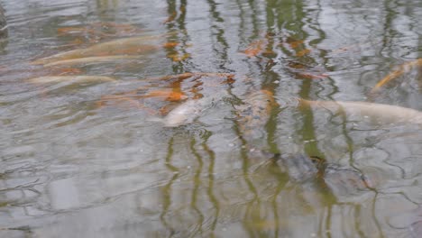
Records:
[[[58,83],[58,82],[78,82],[78,83],[91,83],[91,82],[109,82],[115,81],[115,78],[105,76],[45,76],[39,78],[30,78],[28,82],[33,84],[47,84],[47,83]]]

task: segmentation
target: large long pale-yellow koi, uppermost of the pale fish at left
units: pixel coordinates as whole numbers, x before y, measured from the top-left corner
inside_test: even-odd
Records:
[[[49,64],[54,61],[78,59],[96,56],[113,56],[113,55],[138,55],[141,53],[158,50],[156,45],[145,44],[146,37],[131,37],[115,41],[107,41],[90,46],[86,49],[70,50],[59,54],[52,55],[47,58],[38,59],[32,64]]]

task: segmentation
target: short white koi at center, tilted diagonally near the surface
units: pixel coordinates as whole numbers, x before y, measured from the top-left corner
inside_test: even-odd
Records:
[[[203,97],[190,99],[177,106],[163,118],[152,118],[151,121],[161,122],[166,127],[176,127],[191,124],[203,111],[209,108],[219,97]]]

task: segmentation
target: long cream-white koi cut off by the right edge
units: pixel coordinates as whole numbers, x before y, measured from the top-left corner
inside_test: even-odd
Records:
[[[422,124],[422,112],[398,105],[383,105],[367,102],[308,101],[299,99],[299,105],[322,107],[348,117],[370,117],[379,123]]]

